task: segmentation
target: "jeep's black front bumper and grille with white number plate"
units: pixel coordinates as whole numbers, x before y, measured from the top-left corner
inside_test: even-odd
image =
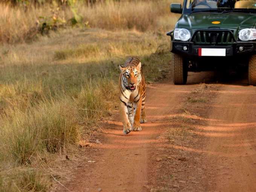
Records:
[[[239,56],[256,54],[256,41],[236,41],[233,30],[198,29],[190,41],[174,40],[171,36],[171,52],[195,58],[201,56]]]

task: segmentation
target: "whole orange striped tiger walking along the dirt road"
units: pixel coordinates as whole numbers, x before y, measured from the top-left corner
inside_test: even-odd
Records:
[[[141,131],[140,123],[146,123],[146,84],[142,64],[138,58],[128,58],[119,65],[119,109],[123,123],[123,134]]]

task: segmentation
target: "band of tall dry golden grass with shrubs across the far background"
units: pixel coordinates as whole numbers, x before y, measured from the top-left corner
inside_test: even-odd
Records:
[[[14,43],[33,39],[38,37],[38,34],[44,34],[45,30],[72,25],[72,20],[78,17],[77,15],[81,17],[79,26],[84,27],[108,30],[136,29],[142,32],[166,30],[178,17],[173,15],[175,19],[170,19],[169,23],[161,21],[161,18],[170,15],[169,3],[168,0],[108,0],[88,6],[87,3],[78,1],[72,7],[45,3],[29,8],[2,3],[0,42]]]

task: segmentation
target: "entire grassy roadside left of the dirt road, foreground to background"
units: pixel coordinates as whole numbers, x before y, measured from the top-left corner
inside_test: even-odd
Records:
[[[128,56],[148,83],[169,77],[171,2],[67,3],[0,4],[0,192],[48,191],[65,177],[60,157],[117,106]]]

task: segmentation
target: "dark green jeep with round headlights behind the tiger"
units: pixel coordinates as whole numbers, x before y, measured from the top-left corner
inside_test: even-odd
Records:
[[[171,12],[182,14],[167,33],[174,84],[186,84],[188,71],[248,66],[256,85],[256,0],[184,0]]]

